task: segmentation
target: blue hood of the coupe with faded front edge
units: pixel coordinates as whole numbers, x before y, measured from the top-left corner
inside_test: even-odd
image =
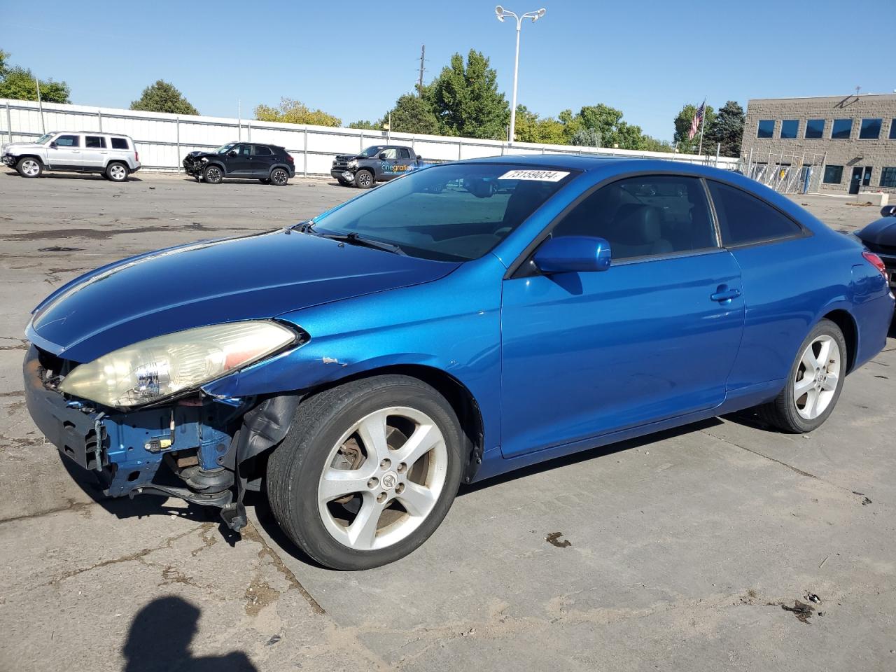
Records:
[[[458,265],[290,229],[203,241],[132,257],[73,280],[35,309],[26,335],[60,357],[87,362],[166,333],[271,318],[437,280]]]

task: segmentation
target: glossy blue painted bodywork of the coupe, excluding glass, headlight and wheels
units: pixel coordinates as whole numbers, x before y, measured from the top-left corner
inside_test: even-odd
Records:
[[[861,246],[745,177],[651,160],[472,162],[581,172],[491,254],[468,263],[284,231],[185,246],[74,280],[39,306],[27,334],[54,354],[89,361],[204,324],[292,323],[311,340],[203,385],[207,405],[232,409],[234,398],[249,403],[395,366],[442,372],[470,392],[481,419],[484,456],[476,479],[769,401],[806,333],[833,310],[855,325],[853,366],[883,348],[893,299],[881,274],[861,258]],[[505,277],[583,192],[633,173],[728,182],[788,212],[811,235],[633,260],[606,272]],[[739,296],[711,299],[730,289]],[[155,416],[147,424],[169,420],[169,408],[142,412]],[[104,422],[127,424],[114,413]],[[133,438],[121,436],[116,445]],[[202,461],[210,462],[211,444],[202,445]],[[119,472],[149,464],[134,448],[113,452],[122,460]]]

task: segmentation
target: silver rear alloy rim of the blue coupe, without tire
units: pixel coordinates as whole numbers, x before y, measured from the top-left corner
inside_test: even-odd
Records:
[[[818,418],[831,405],[840,384],[840,346],[822,334],[806,346],[797,366],[793,401],[799,417]]]

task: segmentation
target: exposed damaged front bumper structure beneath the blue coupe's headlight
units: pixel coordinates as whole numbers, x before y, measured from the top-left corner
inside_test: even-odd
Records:
[[[253,458],[286,435],[299,397],[193,396],[123,412],[56,391],[65,364],[31,346],[23,364],[31,418],[66,460],[93,471],[105,495],[176,496],[216,506],[233,530],[246,525]]]

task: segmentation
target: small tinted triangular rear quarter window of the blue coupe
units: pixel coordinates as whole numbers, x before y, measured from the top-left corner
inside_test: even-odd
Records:
[[[722,245],[736,246],[797,236],[797,222],[733,186],[709,182],[712,202],[719,216]]]

